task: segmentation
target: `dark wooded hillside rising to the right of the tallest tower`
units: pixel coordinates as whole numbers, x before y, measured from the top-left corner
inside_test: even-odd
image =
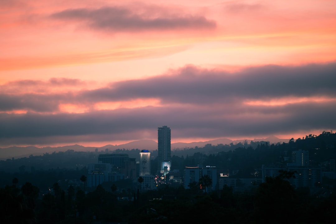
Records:
[[[293,151],[302,149],[309,151],[309,165],[323,166],[329,169],[328,162],[336,158],[336,134],[323,132],[319,136],[309,135],[289,143],[269,144],[268,142],[247,142],[230,145],[205,145],[203,153],[196,152],[192,156],[175,154],[181,151],[174,151],[172,156],[172,167],[183,170],[184,167],[194,167],[198,164],[216,166],[217,169],[238,171],[236,178],[253,178],[255,171],[261,169],[262,165],[284,166],[290,163]],[[198,148],[191,149],[197,151]],[[206,149],[206,150],[205,150]],[[186,149],[190,150],[190,149]],[[183,151],[183,150],[182,150]],[[286,160],[287,159],[287,160]],[[288,161],[289,160],[289,161]]]

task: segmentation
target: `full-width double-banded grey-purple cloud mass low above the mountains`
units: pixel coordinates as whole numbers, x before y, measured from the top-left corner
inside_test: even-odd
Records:
[[[0,109],[27,109],[27,114],[0,114],[0,141],[33,144],[64,139],[138,139],[168,125],[178,138],[220,138],[331,130],[336,126],[336,63],[296,67],[263,66],[229,74],[194,66],[144,80],[123,81],[110,87],[68,94],[0,95]],[[26,82],[27,83],[27,82]],[[76,82],[74,83],[74,85]],[[286,97],[327,97],[275,106],[248,105],[246,100]],[[57,112],[59,103],[114,102],[158,98],[161,106],[91,111]],[[100,137],[98,137],[100,136]],[[104,136],[104,137],[102,137]],[[128,136],[128,137],[125,137]],[[68,141],[67,140],[67,141]],[[39,142],[35,142],[39,144]]]

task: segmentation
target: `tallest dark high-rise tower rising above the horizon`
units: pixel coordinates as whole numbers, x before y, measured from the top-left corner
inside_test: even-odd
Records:
[[[162,126],[162,128],[158,128],[158,173],[163,170],[163,162],[170,161],[170,128]]]

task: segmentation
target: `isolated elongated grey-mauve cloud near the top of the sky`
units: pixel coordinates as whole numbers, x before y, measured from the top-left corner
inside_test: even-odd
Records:
[[[172,30],[172,29],[213,29],[216,23],[203,16],[192,15],[150,15],[155,12],[138,14],[122,7],[102,7],[99,9],[67,9],[51,15],[62,20],[77,20],[91,28],[113,31]]]

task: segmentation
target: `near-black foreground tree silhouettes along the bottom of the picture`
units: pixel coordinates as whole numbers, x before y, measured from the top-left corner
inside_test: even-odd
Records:
[[[98,185],[84,194],[57,183],[39,197],[30,182],[20,188],[16,179],[0,189],[3,223],[334,223],[336,198],[309,195],[286,180],[292,173],[269,177],[251,192],[223,189],[205,193],[161,185],[157,190],[132,192],[131,200],[118,200],[118,188]]]

